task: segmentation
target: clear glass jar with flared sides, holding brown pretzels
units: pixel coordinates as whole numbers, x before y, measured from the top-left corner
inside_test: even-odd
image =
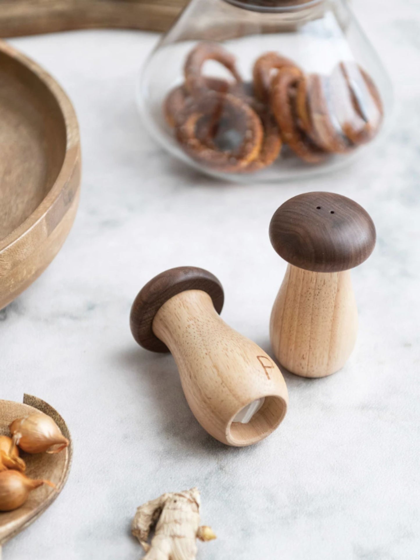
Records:
[[[366,151],[393,108],[346,0],[192,0],[137,97],[169,152],[239,181],[331,170]]]

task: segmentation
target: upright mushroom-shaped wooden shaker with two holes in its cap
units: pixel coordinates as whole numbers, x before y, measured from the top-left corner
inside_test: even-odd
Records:
[[[274,354],[294,374],[333,374],[356,342],[349,269],[372,253],[374,222],[347,197],[306,193],[277,209],[269,231],[274,249],[289,263],[270,320]]]

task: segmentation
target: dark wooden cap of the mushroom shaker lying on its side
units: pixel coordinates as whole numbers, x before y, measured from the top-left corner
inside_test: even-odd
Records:
[[[225,296],[222,284],[211,272],[195,267],[165,270],[143,286],[131,308],[130,329],[140,346],[153,352],[169,352],[166,344],[153,333],[153,319],[166,301],[187,290],[207,292],[214,309],[221,312]]]

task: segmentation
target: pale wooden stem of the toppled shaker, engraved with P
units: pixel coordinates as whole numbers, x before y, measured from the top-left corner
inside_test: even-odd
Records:
[[[175,358],[195,418],[217,440],[250,445],[282,421],[288,396],[281,371],[220,318],[206,292],[188,290],[168,300],[153,319],[153,333]],[[232,422],[260,398],[264,404],[249,423]]]

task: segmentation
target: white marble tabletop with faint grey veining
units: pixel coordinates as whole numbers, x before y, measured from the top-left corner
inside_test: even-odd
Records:
[[[80,119],[80,210],[63,250],[0,312],[1,398],[24,391],[66,418],[74,463],[57,502],[4,547],[5,560],[141,557],[140,503],[197,485],[215,542],[207,560],[420,557],[420,13],[417,0],[355,0],[385,58],[399,108],[388,141],[328,177],[217,184],[172,160],[142,130],[139,66],[156,36],[83,31],[13,40],[62,83]],[[260,445],[230,449],[200,428],[170,356],[137,347],[134,296],[163,269],[220,277],[223,318],[268,352],[285,264],[267,228],[305,190],[355,198],[377,248],[354,270],[360,334],[336,375],[287,375],[290,410]]]

